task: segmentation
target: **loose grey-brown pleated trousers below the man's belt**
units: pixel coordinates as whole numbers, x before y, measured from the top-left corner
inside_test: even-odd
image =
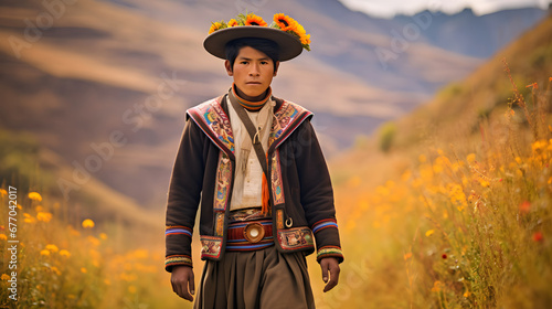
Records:
[[[225,252],[222,260],[205,263],[193,308],[315,308],[305,255],[275,246]]]

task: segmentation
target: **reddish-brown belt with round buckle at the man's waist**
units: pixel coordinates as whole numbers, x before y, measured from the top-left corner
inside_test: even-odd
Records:
[[[236,222],[229,225],[226,251],[256,251],[274,245],[272,220]]]

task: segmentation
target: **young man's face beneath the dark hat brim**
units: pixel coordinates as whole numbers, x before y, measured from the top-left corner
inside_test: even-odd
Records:
[[[230,61],[225,62],[229,76],[234,77],[234,84],[238,88],[237,95],[252,102],[264,98],[273,77],[276,76],[278,65],[279,62],[276,62],[275,70],[270,57],[250,46],[240,50],[234,67],[230,67]]]

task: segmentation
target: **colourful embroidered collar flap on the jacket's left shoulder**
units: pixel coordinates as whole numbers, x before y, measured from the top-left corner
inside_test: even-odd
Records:
[[[189,113],[200,118],[202,122],[209,127],[211,134],[216,137],[219,142],[234,152],[234,136],[232,135],[229,116],[226,116],[219,102],[214,99],[205,102],[191,108]],[[192,117],[192,119],[198,120],[194,117]],[[200,125],[200,128],[203,128],[203,126]],[[209,135],[209,132],[206,134],[211,138],[211,135]]]

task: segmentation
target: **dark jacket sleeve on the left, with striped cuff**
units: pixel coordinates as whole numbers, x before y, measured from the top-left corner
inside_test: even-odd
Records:
[[[192,232],[205,167],[204,139],[205,136],[195,122],[188,119],[174,160],[167,200],[164,269],[169,273],[177,265],[192,266]]]

